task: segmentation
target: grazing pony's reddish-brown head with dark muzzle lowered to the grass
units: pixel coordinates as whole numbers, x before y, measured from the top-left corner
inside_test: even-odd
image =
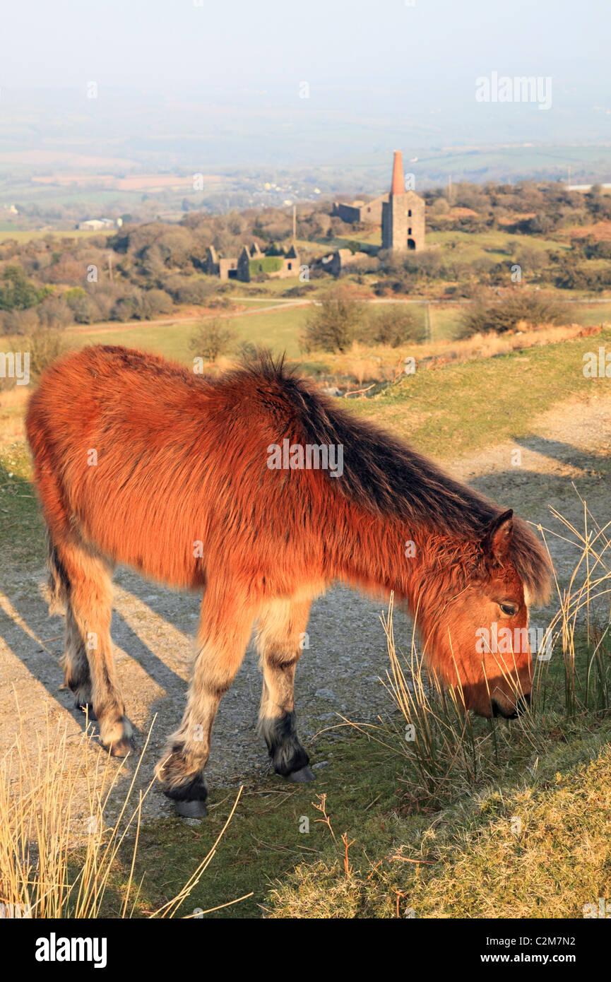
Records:
[[[446,542],[433,567],[417,613],[429,667],[477,715],[517,716],[532,687],[529,594],[545,595],[549,578],[541,547],[508,511],[477,542]]]

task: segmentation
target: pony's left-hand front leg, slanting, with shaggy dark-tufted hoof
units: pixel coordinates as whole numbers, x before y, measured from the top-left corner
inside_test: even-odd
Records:
[[[163,791],[176,801],[179,814],[187,818],[207,814],[203,768],[210,753],[212,724],[219,703],[242,664],[254,614],[235,584],[228,584],[222,591],[208,584],[201,602],[198,652],[187,709],[156,770]]]

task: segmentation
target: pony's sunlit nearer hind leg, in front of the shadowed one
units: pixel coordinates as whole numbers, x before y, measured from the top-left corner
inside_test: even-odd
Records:
[[[56,546],[55,562],[67,605],[66,682],[79,704],[92,703],[103,745],[113,756],[125,757],[133,749],[132,724],[125,716],[110,639],[111,568],[85,546],[73,543]]]

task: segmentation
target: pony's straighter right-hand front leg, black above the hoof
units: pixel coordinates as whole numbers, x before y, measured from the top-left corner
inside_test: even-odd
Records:
[[[259,733],[265,737],[274,770],[289,781],[311,781],[309,757],[295,723],[295,669],[309,614],[309,600],[278,599],[266,604],[258,624],[263,671]]]

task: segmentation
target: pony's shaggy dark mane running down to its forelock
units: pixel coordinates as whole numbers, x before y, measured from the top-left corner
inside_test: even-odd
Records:
[[[343,475],[330,479],[330,483],[338,493],[378,517],[433,525],[438,532],[472,542],[481,539],[490,521],[504,511],[407,443],[316,392],[296,370],[285,365],[284,358],[274,360],[266,352],[257,352],[230,375],[236,381],[241,375],[243,380],[249,376],[271,411],[284,415],[280,411],[284,403],[297,423],[302,443],[343,446]],[[548,558],[521,518],[514,519],[511,555],[530,600],[544,601],[550,583]]]

